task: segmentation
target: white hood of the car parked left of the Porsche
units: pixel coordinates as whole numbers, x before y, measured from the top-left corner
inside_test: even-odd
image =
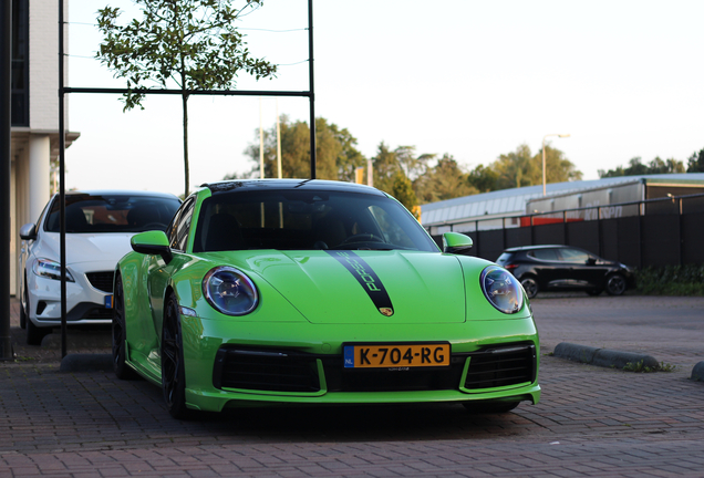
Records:
[[[66,264],[73,266],[84,262],[112,263],[114,269],[117,260],[132,251],[130,239],[134,232],[107,233],[66,233]],[[43,232],[39,243],[33,249],[37,257],[59,260],[60,237],[58,232]]]

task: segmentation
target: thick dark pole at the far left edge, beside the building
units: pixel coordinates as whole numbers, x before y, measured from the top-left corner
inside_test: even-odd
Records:
[[[12,2],[0,7],[0,360],[12,360],[10,339],[10,173],[12,168]]]

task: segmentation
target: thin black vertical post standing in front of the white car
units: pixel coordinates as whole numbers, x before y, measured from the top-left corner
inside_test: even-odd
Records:
[[[63,0],[59,0],[59,197],[61,202],[60,257],[61,257],[61,357],[66,356],[66,183],[63,91]]]

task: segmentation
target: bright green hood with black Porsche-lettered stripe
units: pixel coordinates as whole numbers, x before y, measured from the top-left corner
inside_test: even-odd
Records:
[[[271,251],[246,259],[318,324],[465,321],[462,266],[417,251]],[[256,278],[252,278],[256,280]]]

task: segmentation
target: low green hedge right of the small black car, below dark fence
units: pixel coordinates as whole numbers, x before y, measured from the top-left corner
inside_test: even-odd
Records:
[[[704,297],[704,264],[648,267],[636,271],[636,293]]]

